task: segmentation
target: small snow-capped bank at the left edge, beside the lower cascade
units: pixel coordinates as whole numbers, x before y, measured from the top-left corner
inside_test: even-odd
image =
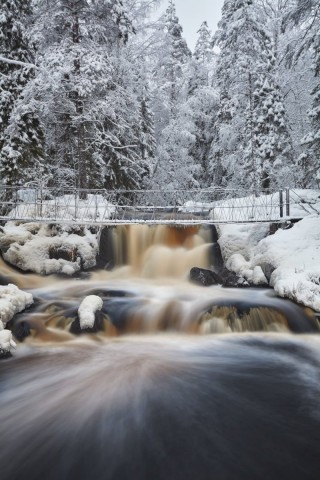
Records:
[[[19,290],[15,285],[0,286],[0,355],[9,352],[16,346],[12,333],[6,324],[16,313],[21,312],[33,303],[31,293]]]

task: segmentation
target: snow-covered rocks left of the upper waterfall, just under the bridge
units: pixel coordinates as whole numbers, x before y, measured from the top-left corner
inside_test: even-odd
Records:
[[[77,231],[67,226],[8,222],[0,230],[0,249],[3,258],[21,270],[73,275],[82,267],[94,267],[98,251],[96,234],[85,227]],[[59,256],[63,258],[52,258]]]

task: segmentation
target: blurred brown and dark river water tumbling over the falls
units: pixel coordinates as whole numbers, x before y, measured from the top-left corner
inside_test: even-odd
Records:
[[[90,277],[2,280],[35,304],[0,362],[0,478],[318,479],[320,353],[310,312],[267,289],[200,287],[210,229],[107,231]],[[88,295],[103,307],[79,335]]]

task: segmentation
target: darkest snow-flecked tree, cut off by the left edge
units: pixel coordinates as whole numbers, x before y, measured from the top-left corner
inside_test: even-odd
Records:
[[[0,0],[0,178],[25,184],[44,171],[43,131],[24,91],[34,77],[33,52],[26,36],[29,0]]]

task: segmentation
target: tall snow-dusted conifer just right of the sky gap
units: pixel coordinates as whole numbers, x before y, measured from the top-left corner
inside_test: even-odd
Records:
[[[229,186],[242,184],[258,193],[276,186],[277,167],[283,175],[290,169],[292,151],[275,81],[272,40],[253,0],[225,1],[215,43],[221,48],[217,66],[221,113],[216,131],[218,143],[225,146],[220,159]],[[227,120],[222,111],[229,112]]]

